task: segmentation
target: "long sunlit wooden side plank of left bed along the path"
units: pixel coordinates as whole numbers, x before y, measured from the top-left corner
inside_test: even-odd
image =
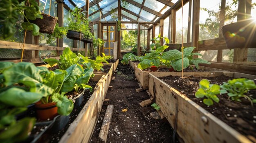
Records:
[[[81,112],[62,136],[60,143],[88,143],[90,141],[108,91],[111,76],[112,67],[106,75],[102,75],[102,78],[95,86],[96,90],[94,90]]]

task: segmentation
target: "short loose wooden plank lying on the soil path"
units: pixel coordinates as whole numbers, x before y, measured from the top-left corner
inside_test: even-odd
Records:
[[[109,105],[107,107],[104,119],[103,119],[103,123],[101,125],[101,130],[99,132],[99,139],[101,142],[106,143],[107,142],[107,137],[108,137],[108,129],[109,129],[109,125],[111,122],[111,118],[112,118],[112,113],[114,110],[114,106],[113,105]]]

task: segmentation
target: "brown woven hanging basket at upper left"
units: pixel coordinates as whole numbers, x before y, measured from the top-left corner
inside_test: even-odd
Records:
[[[58,19],[45,13],[41,15],[43,15],[43,19],[36,18],[36,20],[31,20],[30,22],[39,26],[40,33],[52,34]]]

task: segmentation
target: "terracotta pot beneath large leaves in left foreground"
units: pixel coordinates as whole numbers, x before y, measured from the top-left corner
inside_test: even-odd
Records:
[[[40,120],[47,120],[47,119],[54,119],[58,115],[58,108],[56,107],[56,103],[47,103],[47,104],[42,104],[41,101],[38,101],[35,103],[35,108],[36,108],[36,114],[37,118]]]

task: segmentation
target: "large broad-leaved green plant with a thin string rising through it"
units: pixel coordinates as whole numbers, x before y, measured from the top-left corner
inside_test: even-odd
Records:
[[[195,47],[182,48],[183,50],[183,68],[189,67],[191,64],[194,64],[196,68],[198,64],[211,64],[204,59],[195,58],[193,59],[193,55],[202,56],[200,53],[192,53]],[[171,61],[171,66],[176,71],[182,70],[182,52],[178,50],[169,50],[162,54],[162,58],[168,61]]]

